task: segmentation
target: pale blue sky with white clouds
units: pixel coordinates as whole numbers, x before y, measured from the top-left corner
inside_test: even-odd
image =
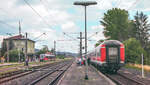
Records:
[[[74,6],[75,1],[88,0],[0,0],[0,43],[3,38],[11,36],[7,33],[18,35],[20,20],[22,34],[27,32],[30,39],[36,38],[36,48],[47,45],[51,49],[55,40],[57,51],[78,52],[77,37],[79,32],[84,35],[84,7]],[[88,51],[94,49],[96,41],[105,39],[99,21],[109,9],[126,9],[129,19],[133,19],[137,11],[143,11],[150,21],[149,0],[91,1],[98,4],[87,8]],[[40,35],[42,36],[38,37]]]

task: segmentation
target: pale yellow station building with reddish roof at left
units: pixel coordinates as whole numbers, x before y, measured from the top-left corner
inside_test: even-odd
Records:
[[[11,48],[11,50],[20,50],[25,53],[26,38],[23,35],[20,34],[20,35],[5,38],[3,39],[3,42],[6,43],[6,46],[8,45],[9,49]],[[2,47],[3,46],[4,43],[2,43]],[[27,54],[33,55],[34,53],[35,53],[35,41],[27,39]]]

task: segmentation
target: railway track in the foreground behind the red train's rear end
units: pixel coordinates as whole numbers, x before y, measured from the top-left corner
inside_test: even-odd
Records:
[[[128,78],[123,74],[105,74],[108,78],[114,81],[117,85],[146,85],[142,82],[136,81],[134,79]]]

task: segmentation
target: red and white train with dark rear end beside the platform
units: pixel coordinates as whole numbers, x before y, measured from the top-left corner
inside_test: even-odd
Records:
[[[118,40],[106,40],[88,53],[88,59],[102,72],[117,73],[125,65],[124,44]]]

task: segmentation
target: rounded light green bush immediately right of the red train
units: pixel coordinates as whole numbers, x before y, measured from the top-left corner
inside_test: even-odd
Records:
[[[126,62],[141,63],[141,54],[146,55],[146,52],[140,42],[135,38],[130,38],[123,43],[125,45]]]

